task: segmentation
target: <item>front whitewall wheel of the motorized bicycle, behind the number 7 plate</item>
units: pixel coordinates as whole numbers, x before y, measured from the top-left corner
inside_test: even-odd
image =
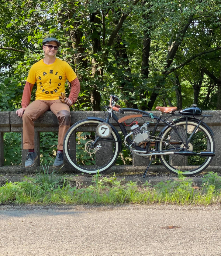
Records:
[[[108,138],[97,138],[96,128],[101,121],[84,119],[72,125],[64,138],[64,155],[75,170],[88,174],[102,173],[108,170],[116,161],[120,141],[112,130]]]

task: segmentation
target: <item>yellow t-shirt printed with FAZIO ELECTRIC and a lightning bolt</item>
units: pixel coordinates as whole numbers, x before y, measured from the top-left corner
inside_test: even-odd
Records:
[[[47,65],[42,59],[31,67],[27,82],[36,82],[36,100],[57,100],[61,92],[65,93],[66,80],[71,82],[76,77],[67,62],[56,58],[53,64]]]

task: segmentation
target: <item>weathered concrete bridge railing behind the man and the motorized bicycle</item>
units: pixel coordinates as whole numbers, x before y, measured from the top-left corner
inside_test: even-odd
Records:
[[[160,111],[152,111],[152,113],[156,116],[160,115]],[[127,112],[126,115],[132,114]],[[134,113],[133,113],[134,114]],[[212,131],[214,132],[215,144],[216,144],[216,156],[213,158],[211,165],[207,168],[208,171],[221,171],[221,159],[220,159],[220,146],[221,146],[221,111],[203,111],[205,115],[213,115],[212,117],[205,118],[204,122],[206,122]],[[105,118],[103,111],[75,111],[71,112],[71,125],[75,122],[82,120],[88,116],[95,116],[100,118]],[[120,118],[123,115],[117,113],[117,116]],[[168,116],[164,114],[163,117]],[[174,117],[172,117],[174,118]],[[171,119],[172,119],[171,118]],[[150,120],[149,118],[145,118],[145,120]],[[132,120],[128,120],[127,123],[130,123]],[[143,120],[138,118],[137,121],[141,123]],[[151,119],[150,121],[154,121]],[[113,125],[116,125],[113,119],[110,120]],[[116,126],[117,130],[120,130],[118,126]],[[154,128],[154,124],[150,125],[150,130]],[[160,131],[163,126],[159,126],[158,130]],[[128,128],[129,129],[129,128]],[[35,151],[39,155],[40,154],[40,132],[42,131],[58,131],[58,121],[56,116],[51,112],[47,111],[44,113],[38,120],[35,121]],[[30,173],[36,169],[39,169],[40,166],[40,158],[35,166],[31,168],[24,168],[24,163],[27,156],[27,150],[22,148],[22,166],[4,166],[4,140],[3,133],[4,132],[20,132],[22,134],[22,118],[19,118],[15,112],[0,112],[0,173],[4,172],[26,172]],[[21,145],[22,147],[22,145]],[[143,171],[146,169],[149,159],[144,159],[139,156],[133,157],[133,165],[131,166],[114,166],[110,171],[122,172],[122,171]],[[152,171],[167,171],[163,166],[152,166]],[[62,168],[64,172],[73,172],[73,168],[69,166],[67,163],[64,164],[64,168]]]

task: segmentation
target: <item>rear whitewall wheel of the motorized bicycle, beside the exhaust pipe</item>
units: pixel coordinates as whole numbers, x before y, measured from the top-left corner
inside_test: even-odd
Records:
[[[186,140],[186,129],[187,137],[189,138],[194,131],[194,128],[199,124],[197,121],[188,120],[187,128],[185,120],[178,120],[175,122],[177,126],[177,133],[179,133],[182,141]],[[165,129],[163,134],[160,136],[161,141],[158,144],[158,150],[164,151],[168,149],[184,148],[184,144],[179,138],[176,131],[168,127]],[[165,141],[167,141],[165,143]],[[205,127],[205,125],[199,125],[199,128],[195,131],[188,144],[188,151],[200,153],[202,151],[214,151],[215,142],[211,132]],[[184,175],[191,176],[200,173],[209,166],[213,157],[202,157],[200,155],[160,155],[161,163],[172,173],[178,174],[178,170],[185,172]]]

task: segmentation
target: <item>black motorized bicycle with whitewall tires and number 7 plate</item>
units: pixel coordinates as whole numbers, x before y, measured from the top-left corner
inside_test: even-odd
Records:
[[[215,142],[211,128],[203,122],[212,115],[202,115],[196,105],[175,112],[176,107],[156,107],[161,111],[157,117],[153,113],[133,108],[120,108],[116,105],[119,98],[110,95],[110,103],[102,109],[108,111],[105,119],[87,117],[72,125],[64,138],[64,155],[70,165],[79,172],[95,174],[105,172],[117,161],[122,144],[130,154],[150,158],[149,165],[156,157],[172,173],[178,170],[191,176],[200,173],[209,166],[215,156]],[[115,111],[123,116],[118,118]],[[125,115],[126,112],[133,114]],[[170,114],[162,119],[162,114]],[[116,125],[123,134],[123,141]],[[172,120],[170,120],[172,118]],[[128,123],[131,119],[132,122]],[[138,125],[141,123],[141,125]],[[150,124],[155,124],[150,131]],[[157,128],[163,128],[157,134]],[[128,131],[129,128],[129,131]],[[157,136],[156,136],[157,135]]]

